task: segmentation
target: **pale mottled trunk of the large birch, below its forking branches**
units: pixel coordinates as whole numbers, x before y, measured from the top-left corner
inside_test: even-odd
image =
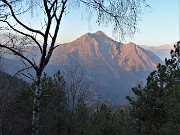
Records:
[[[31,135],[37,135],[38,134],[38,128],[39,128],[38,122],[39,122],[41,95],[42,95],[41,76],[37,75],[36,90],[34,93],[33,116],[32,116],[32,134]]]

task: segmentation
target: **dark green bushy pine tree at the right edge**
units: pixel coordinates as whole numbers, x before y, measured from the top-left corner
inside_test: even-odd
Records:
[[[171,59],[150,73],[144,88],[132,89],[127,96],[134,129],[139,134],[178,134],[180,130],[180,42],[171,51]]]

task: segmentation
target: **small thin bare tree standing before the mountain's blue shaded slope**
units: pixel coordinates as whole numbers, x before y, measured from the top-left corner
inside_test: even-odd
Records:
[[[71,135],[78,123],[76,121],[77,107],[88,101],[92,101],[93,98],[97,97],[97,92],[93,82],[87,78],[86,70],[79,62],[71,58],[66,63],[63,71],[66,82],[65,89],[68,112],[66,134]]]

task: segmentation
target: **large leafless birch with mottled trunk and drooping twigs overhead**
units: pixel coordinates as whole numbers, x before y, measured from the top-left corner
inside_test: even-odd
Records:
[[[114,31],[121,35],[134,34],[137,22],[144,7],[145,0],[0,0],[0,30],[12,33],[9,40],[0,43],[0,47],[23,59],[36,73],[32,78],[36,84],[32,114],[32,135],[38,134],[40,101],[42,97],[41,78],[56,45],[56,38],[63,15],[71,13],[72,9],[88,13],[88,18],[96,19],[99,25],[113,25]],[[31,27],[30,21],[23,21],[22,16],[35,18],[34,12],[41,17],[40,28]],[[20,40],[17,40],[21,37]],[[42,44],[37,38],[42,38]],[[36,45],[40,57],[36,61],[28,58],[21,51],[19,44]],[[48,42],[50,41],[50,43]],[[48,47],[49,44],[49,47]]]

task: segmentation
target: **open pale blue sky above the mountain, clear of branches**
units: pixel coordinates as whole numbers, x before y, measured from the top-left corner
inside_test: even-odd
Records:
[[[162,45],[180,40],[180,0],[147,0],[152,9],[144,13],[139,22],[140,31],[132,39],[123,42],[135,42],[138,45]],[[98,27],[88,23],[82,15],[73,12],[63,18],[58,42],[71,42],[87,32],[104,31],[114,38],[111,28]],[[118,39],[115,39],[118,40]]]

